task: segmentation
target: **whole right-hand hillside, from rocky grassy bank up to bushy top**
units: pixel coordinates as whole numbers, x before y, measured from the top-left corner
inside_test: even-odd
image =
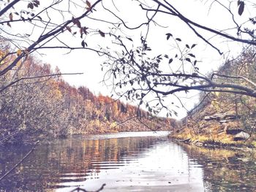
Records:
[[[255,61],[255,50],[245,50],[219,68],[221,78],[217,81],[255,87]],[[233,93],[201,93],[199,104],[181,121],[172,137],[196,145],[256,147],[255,101]]]

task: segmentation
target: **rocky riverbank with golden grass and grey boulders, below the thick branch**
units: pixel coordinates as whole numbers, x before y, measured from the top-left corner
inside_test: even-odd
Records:
[[[246,113],[242,105],[233,110],[233,104],[223,102],[222,95],[215,97],[217,99],[205,101],[199,109],[192,110],[169,137],[199,147],[255,150],[254,116]]]

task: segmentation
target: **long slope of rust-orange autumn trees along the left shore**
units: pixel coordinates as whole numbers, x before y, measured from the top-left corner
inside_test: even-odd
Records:
[[[0,70],[9,62],[2,63]],[[130,104],[95,96],[88,88],[75,88],[56,74],[59,69],[53,71],[49,64],[28,56],[1,76],[0,142],[170,129],[172,119],[152,118]]]

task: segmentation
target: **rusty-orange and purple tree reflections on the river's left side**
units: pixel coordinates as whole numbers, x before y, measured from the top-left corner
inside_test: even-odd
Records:
[[[156,142],[157,138],[153,137],[99,140],[78,137],[59,140],[54,145],[41,145],[24,164],[0,183],[0,191],[45,191],[59,187],[61,183],[84,181],[86,176],[97,177],[101,169],[109,169],[113,163],[115,167],[129,164],[132,158],[121,157],[138,155]],[[10,153],[0,150],[0,160],[7,162],[0,164],[0,174],[27,150],[22,146],[10,149]]]

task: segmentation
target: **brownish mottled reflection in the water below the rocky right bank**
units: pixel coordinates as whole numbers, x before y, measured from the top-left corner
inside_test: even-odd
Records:
[[[203,165],[204,183],[212,191],[256,191],[255,154],[183,145],[194,163]],[[190,161],[191,163],[193,163]]]

